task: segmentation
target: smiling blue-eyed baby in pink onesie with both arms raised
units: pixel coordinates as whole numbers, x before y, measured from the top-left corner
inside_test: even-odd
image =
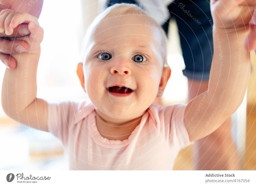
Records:
[[[166,36],[139,7],[115,4],[93,21],[85,37],[83,63],[77,66],[90,101],[79,103],[36,98],[43,29],[29,14],[1,11],[0,29],[7,35],[21,23],[28,23],[31,32],[24,37],[30,50],[13,55],[18,67],[5,71],[4,111],[57,136],[68,148],[71,170],[171,170],[182,148],[212,133],[242,103],[250,59],[241,43],[253,12],[253,6],[242,3],[244,10],[237,12],[229,1],[212,1],[209,89],[187,105],[165,107],[153,102],[161,97],[171,75]]]

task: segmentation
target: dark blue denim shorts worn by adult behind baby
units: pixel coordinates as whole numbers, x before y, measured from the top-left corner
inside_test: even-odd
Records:
[[[106,6],[116,3],[138,4],[134,0],[109,0]],[[210,0],[175,0],[168,9],[179,29],[186,66],[183,74],[188,79],[209,80],[213,55]],[[168,33],[169,20],[162,27]]]

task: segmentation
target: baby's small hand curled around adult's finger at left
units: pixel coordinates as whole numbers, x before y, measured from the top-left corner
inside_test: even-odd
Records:
[[[39,26],[38,19],[28,13],[14,12],[10,9],[4,9],[0,12],[0,32],[7,35],[13,33],[13,29],[22,23],[28,24],[30,35],[19,37],[16,39],[24,40],[29,45],[28,53],[40,48],[43,40],[44,30]]]

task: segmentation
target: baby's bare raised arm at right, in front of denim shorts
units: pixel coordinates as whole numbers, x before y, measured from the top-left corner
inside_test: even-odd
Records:
[[[219,128],[243,101],[251,67],[244,39],[256,1],[240,0],[237,3],[211,1],[214,54],[208,90],[186,107],[185,123],[190,141]]]

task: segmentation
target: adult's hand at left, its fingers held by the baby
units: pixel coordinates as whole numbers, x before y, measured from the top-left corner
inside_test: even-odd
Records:
[[[27,12],[39,18],[43,2],[44,0],[1,0],[0,11],[3,9],[11,9],[15,12]],[[16,60],[12,58],[12,54],[25,52],[29,49],[28,43],[14,38],[29,34],[27,24],[21,24],[19,27],[15,28],[12,35],[0,33],[0,60],[8,68],[14,69],[16,67]]]

